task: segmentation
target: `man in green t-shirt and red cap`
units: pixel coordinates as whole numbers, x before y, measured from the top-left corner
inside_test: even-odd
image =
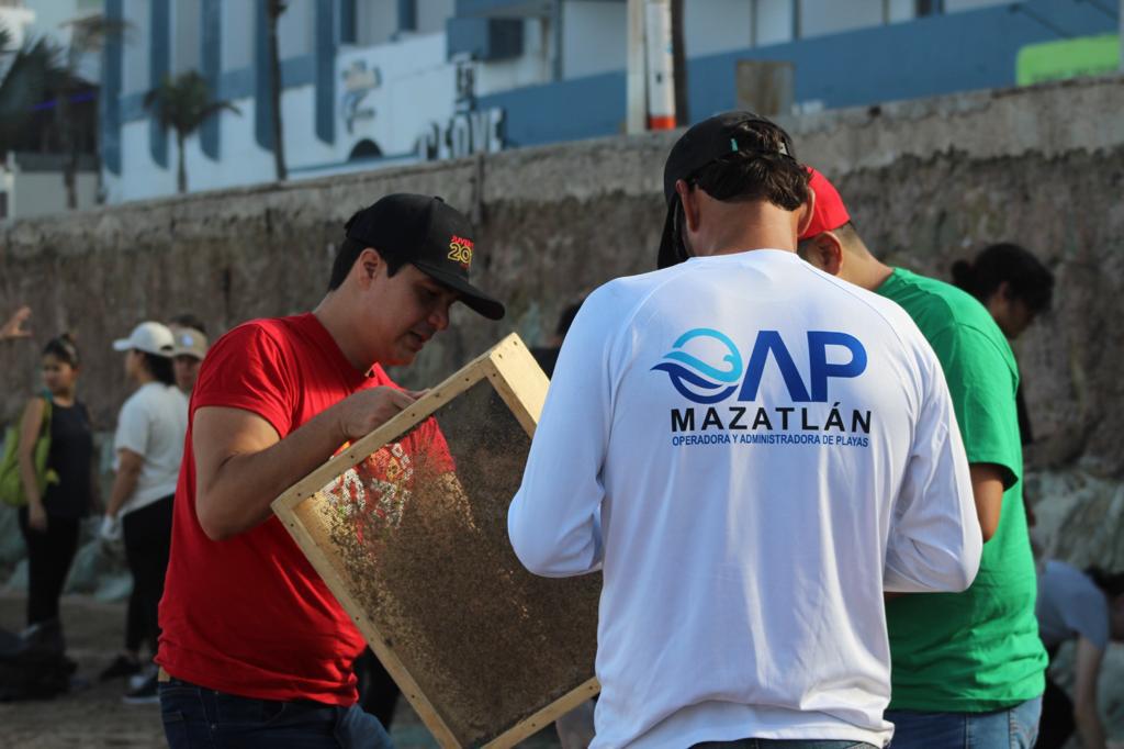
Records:
[[[799,254],[901,305],[936,352],[968,451],[984,558],[968,590],[887,601],[894,749],[1032,747],[1046,655],[1023,509],[1018,368],[987,309],[952,285],[874,258],[835,188],[812,170],[815,217]]]

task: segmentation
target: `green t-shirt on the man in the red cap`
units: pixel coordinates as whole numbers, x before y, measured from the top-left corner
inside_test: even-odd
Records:
[[[936,352],[968,462],[996,463],[1007,472],[999,527],[984,544],[972,586],[886,604],[894,665],[890,710],[1010,707],[1042,694],[1046,667],[1023,508],[1018,366],[987,309],[954,286],[896,269],[878,294],[901,305]]]

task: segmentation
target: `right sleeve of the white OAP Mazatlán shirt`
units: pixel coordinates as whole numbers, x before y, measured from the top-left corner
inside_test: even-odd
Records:
[[[952,399],[941,368],[926,353],[927,392],[887,542],[883,586],[895,593],[963,590],[976,578],[984,550]]]

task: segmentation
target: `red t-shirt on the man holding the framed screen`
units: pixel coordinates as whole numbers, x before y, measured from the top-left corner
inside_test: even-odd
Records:
[[[397,387],[378,364],[369,376],[352,367],[311,314],[245,323],[207,353],[191,396],[160,603],[156,662],[172,676],[260,700],[355,702],[352,664],[363,638],[281,522],[271,517],[225,541],[203,533],[191,433],[198,408],[226,406],[257,414],[284,439],[348,395],[380,385]],[[433,419],[388,450],[452,469]]]

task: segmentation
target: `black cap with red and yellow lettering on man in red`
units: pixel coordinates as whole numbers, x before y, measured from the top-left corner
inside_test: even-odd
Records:
[[[437,197],[398,192],[360,210],[344,227],[350,240],[405,262],[461,295],[461,301],[489,319],[504,305],[469,282],[472,224]]]

